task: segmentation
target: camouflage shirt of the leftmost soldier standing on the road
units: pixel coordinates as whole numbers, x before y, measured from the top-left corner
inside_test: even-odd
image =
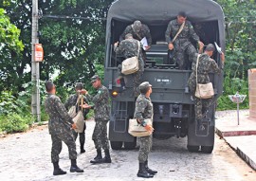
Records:
[[[56,95],[49,94],[45,101],[46,113],[49,116],[48,129],[49,134],[62,134],[71,130],[73,124],[72,118],[69,117],[64,108],[64,104]]]

